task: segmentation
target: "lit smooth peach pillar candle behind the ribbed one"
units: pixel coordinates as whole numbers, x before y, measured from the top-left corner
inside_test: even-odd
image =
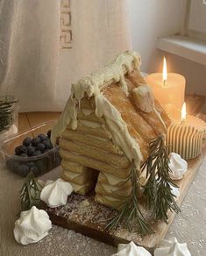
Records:
[[[164,58],[163,72],[146,76],[146,82],[153,89],[154,97],[160,104],[169,110],[174,105],[178,110],[184,103],[185,78],[176,73],[167,74],[167,62]]]

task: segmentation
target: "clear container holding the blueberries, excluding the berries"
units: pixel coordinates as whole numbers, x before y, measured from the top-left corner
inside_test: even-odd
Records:
[[[46,134],[51,130],[54,121],[48,121],[46,123],[38,124],[32,129],[25,132],[19,132],[11,137],[0,141],[0,153],[1,158],[4,161],[6,167],[8,167],[13,173],[25,177],[29,171],[32,171],[35,176],[45,174],[60,165],[60,146],[55,146],[52,149],[41,153],[36,156],[18,156],[15,154],[15,148],[21,146],[25,138],[31,139],[37,137],[38,134]]]

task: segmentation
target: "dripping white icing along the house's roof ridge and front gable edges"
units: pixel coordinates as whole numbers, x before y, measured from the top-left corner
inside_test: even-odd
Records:
[[[119,82],[124,93],[128,95],[124,73],[131,72],[132,68],[139,69],[139,64],[139,54],[127,51],[120,54],[116,60],[105,68],[72,84],[71,96],[67,101],[64,111],[60,115],[58,123],[53,127],[53,143],[65,131],[68,124],[74,130],[77,128],[77,110],[82,98],[85,95],[89,97],[94,96],[96,101],[96,116],[105,118],[105,122],[112,134],[112,139],[117,146],[122,148],[128,159],[134,161],[135,166],[139,169],[143,157],[137,141],[131,137],[120,113],[100,92],[103,83],[113,80],[114,82]]]

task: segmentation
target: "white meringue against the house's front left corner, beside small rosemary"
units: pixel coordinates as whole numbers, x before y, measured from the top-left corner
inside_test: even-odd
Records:
[[[67,196],[73,191],[72,185],[62,179],[46,181],[41,190],[40,199],[49,207],[58,207],[67,203]]]

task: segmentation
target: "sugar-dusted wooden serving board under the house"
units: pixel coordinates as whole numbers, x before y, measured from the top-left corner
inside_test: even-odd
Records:
[[[187,194],[205,153],[206,145],[203,147],[200,157],[188,161],[188,172],[184,175],[183,179],[175,182],[180,187],[180,196],[176,201],[179,206]],[[137,245],[144,246],[150,252],[153,252],[153,249],[159,244],[160,240],[166,236],[175,216],[175,212],[169,212],[168,224],[162,221],[151,221],[150,223],[155,233],[141,238],[139,233],[128,231],[124,226],[119,226],[115,231],[105,231],[105,225],[117,213],[117,210],[112,210],[109,207],[96,203],[94,195],[81,196],[72,194],[68,196],[66,205],[54,209],[44,207],[44,209],[49,214],[53,224],[80,232],[83,235],[103,241],[109,245],[117,246],[120,243],[126,244],[132,240]],[[150,212],[143,208],[141,210],[144,211],[144,216],[149,221]]]

